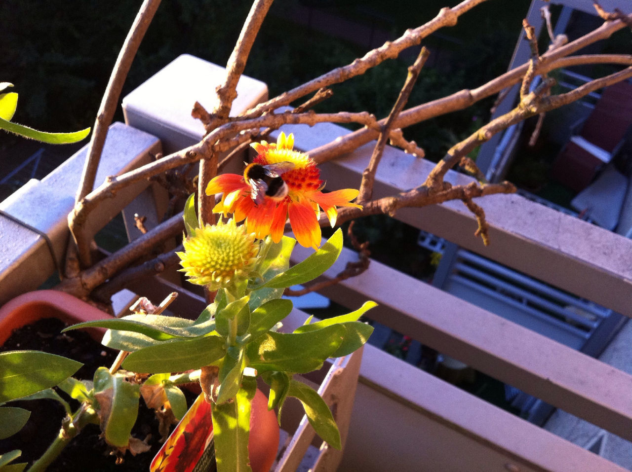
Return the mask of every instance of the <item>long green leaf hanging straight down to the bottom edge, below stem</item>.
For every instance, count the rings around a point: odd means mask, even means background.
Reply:
[[[214,404],[213,439],[217,472],[252,472],[248,460],[250,410],[255,398],[256,381],[244,379],[236,401]]]

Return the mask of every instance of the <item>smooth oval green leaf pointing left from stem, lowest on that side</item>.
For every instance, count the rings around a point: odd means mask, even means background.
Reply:
[[[200,369],[225,354],[226,346],[221,336],[174,339],[131,353],[123,361],[123,368],[133,372],[181,372]]]

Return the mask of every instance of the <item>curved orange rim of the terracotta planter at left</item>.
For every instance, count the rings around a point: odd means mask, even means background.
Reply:
[[[58,318],[66,324],[111,318],[79,298],[58,290],[36,290],[13,298],[0,308],[0,345],[4,344],[14,329],[42,318]],[[100,341],[104,329],[87,330],[92,338]]]

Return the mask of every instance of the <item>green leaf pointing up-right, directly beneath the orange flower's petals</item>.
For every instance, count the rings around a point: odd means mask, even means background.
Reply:
[[[267,281],[262,287],[286,288],[292,285],[306,283],[313,280],[329,269],[343,249],[343,232],[340,228],[332,235],[318,251],[304,261],[289,268],[284,273]]]

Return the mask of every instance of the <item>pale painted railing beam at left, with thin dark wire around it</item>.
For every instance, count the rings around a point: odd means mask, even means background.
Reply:
[[[160,152],[155,136],[114,123],[109,127],[101,156],[95,187],[109,175],[118,175],[149,162],[149,153]],[[0,202],[0,209],[46,233],[54,246],[58,261],[68,241],[67,216],[75,204],[75,192],[82,175],[87,145],[53,170],[41,181],[28,186]],[[121,211],[134,192],[147,187],[141,183],[108,199],[87,221],[87,228],[96,233]],[[27,228],[0,215],[0,304],[20,293],[34,290],[51,276],[54,264],[44,239]]]

